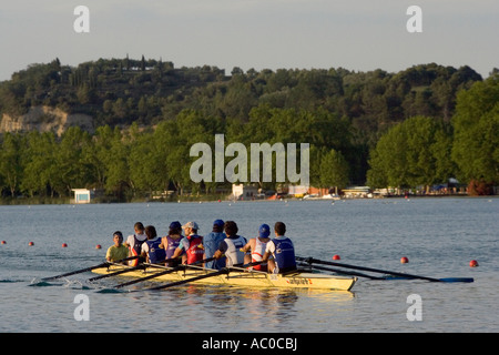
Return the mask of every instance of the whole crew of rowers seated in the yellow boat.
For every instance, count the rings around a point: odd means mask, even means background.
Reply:
[[[134,230],[135,233],[124,243],[123,234],[114,232],[114,245],[108,250],[108,261],[140,256],[147,263],[170,267],[181,263],[200,264],[212,270],[249,266],[248,270],[275,274],[296,270],[295,248],[293,242],[285,236],[286,225],[283,222],[275,223],[275,239],[271,239],[268,224],[262,224],[258,236],[249,241],[237,234],[234,221],[214,221],[213,231],[205,236],[197,234],[200,227],[196,222],[184,225],[177,221],[172,222],[169,234],[163,237],[157,236],[153,225],[144,227],[141,222],[135,223]],[[138,263],[139,260],[134,260],[131,265]]]

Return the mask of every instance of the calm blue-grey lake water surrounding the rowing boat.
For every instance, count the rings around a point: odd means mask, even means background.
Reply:
[[[215,219],[236,221],[247,239],[261,223],[284,221],[301,256],[339,254],[348,264],[475,283],[360,278],[352,292],[181,286],[98,293],[120,280],[92,284],[92,274],[83,273],[30,286],[101,263],[112,233],[129,235],[136,221],[164,234],[171,221],[193,220],[204,234]],[[498,332],[498,219],[499,199],[0,206],[7,242],[0,245],[0,333]],[[409,263],[400,264],[401,256]],[[480,266],[469,267],[470,260]],[[74,318],[79,294],[89,297],[89,321]],[[407,318],[411,294],[421,298],[421,321]]]

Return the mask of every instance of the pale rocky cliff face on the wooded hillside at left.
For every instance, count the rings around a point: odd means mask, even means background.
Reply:
[[[0,133],[4,132],[54,132],[61,135],[68,128],[78,125],[90,133],[94,132],[93,119],[88,114],[72,113],[50,106],[33,106],[21,116],[3,113],[0,121]]]

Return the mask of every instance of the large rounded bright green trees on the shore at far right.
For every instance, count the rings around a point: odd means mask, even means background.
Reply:
[[[386,132],[370,152],[368,184],[416,186],[457,178],[475,193],[499,182],[499,74],[457,95],[450,123],[410,118]]]

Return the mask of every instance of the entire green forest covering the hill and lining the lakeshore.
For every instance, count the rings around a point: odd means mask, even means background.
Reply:
[[[310,184],[401,189],[497,184],[499,71],[420,64],[397,73],[336,69],[276,71],[175,68],[160,60],[59,59],[0,82],[0,116],[32,106],[85,113],[94,129],[0,136],[3,197],[105,191],[113,201],[154,192],[214,193],[193,183],[190,148],[225,143],[310,144]],[[275,183],[261,187],[276,190]],[[473,189],[490,193],[490,189]]]

